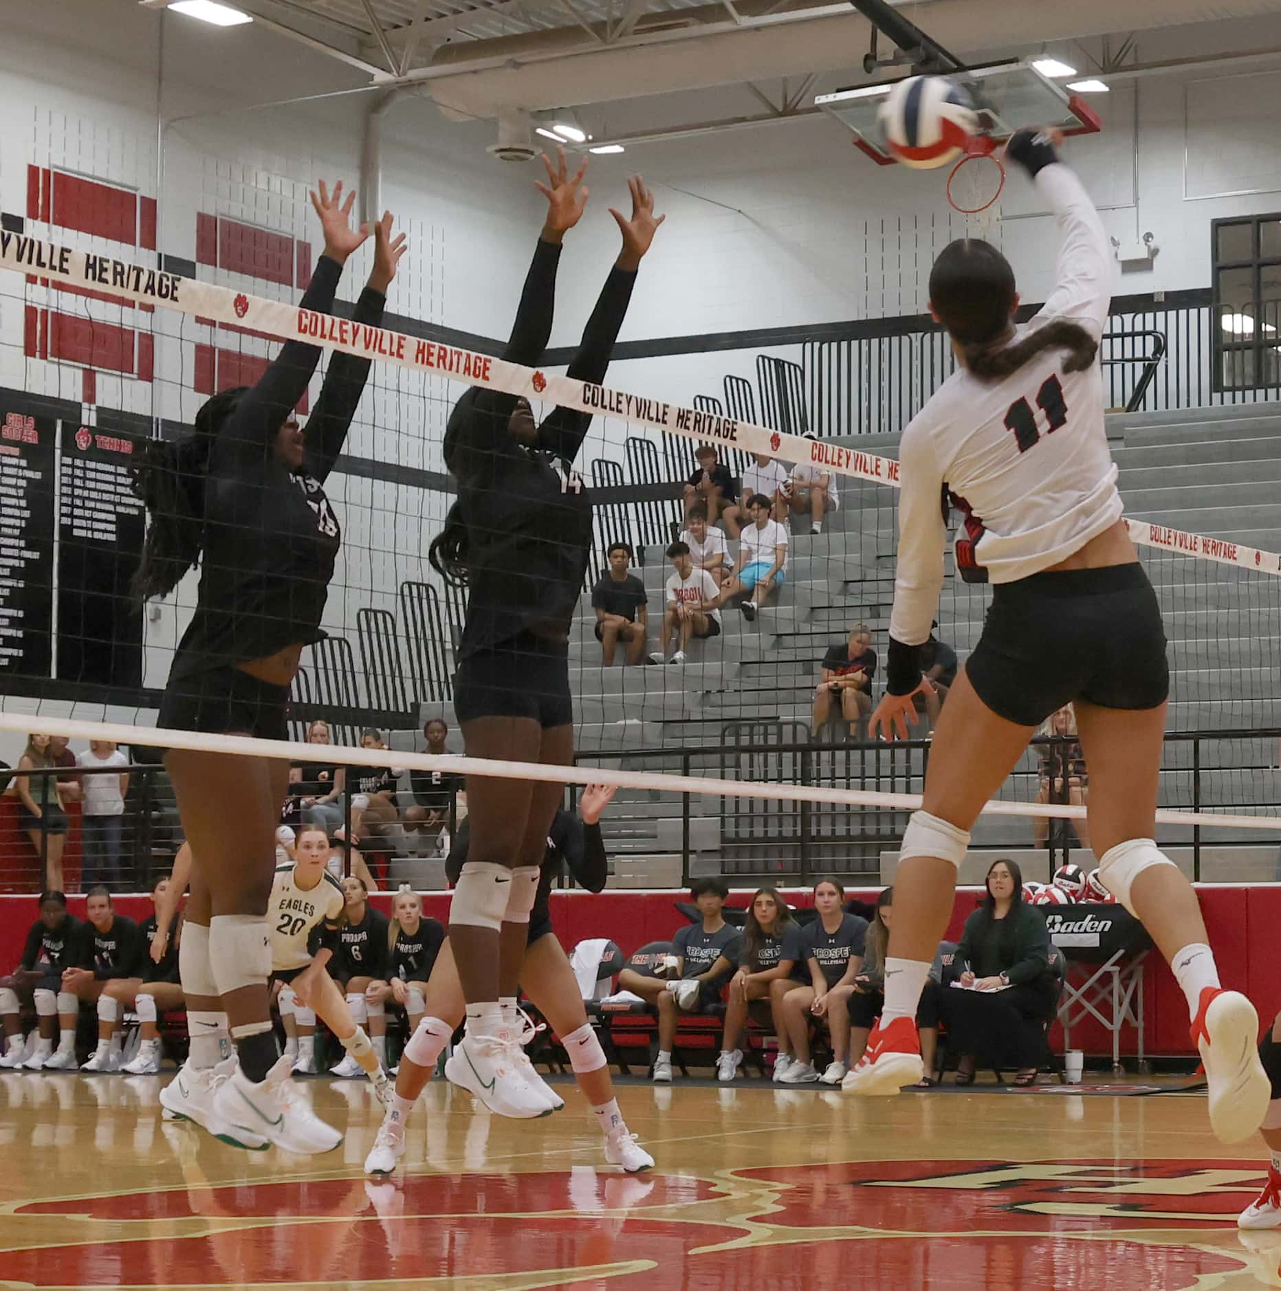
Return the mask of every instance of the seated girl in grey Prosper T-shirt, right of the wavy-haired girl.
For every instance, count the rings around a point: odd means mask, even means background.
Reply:
[[[863,967],[868,920],[846,914],[845,888],[835,879],[819,879],[814,886],[814,906],[819,918],[801,935],[810,985],[793,986],[783,997],[780,1016],[785,1032],[779,1034],[779,1056],[774,1078],[781,1084],[839,1084],[850,1070],[850,1010],[854,979]],[[810,1061],[810,1022],[828,1024],[832,1061],[820,1077]]]

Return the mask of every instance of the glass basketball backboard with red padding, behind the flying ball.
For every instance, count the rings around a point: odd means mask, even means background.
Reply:
[[[1098,114],[1080,96],[1056,85],[1030,62],[967,67],[948,72],[948,79],[968,89],[984,117],[987,133],[997,139],[1006,139],[1025,125],[1052,125],[1064,134],[1094,134],[1102,129]],[[854,132],[855,147],[878,165],[894,165],[878,112],[900,80],[907,77],[838,89],[817,96],[814,102]]]

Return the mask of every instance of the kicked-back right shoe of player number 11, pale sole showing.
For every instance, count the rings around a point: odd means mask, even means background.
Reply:
[[[1206,986],[1192,1024],[1210,1088],[1210,1128],[1220,1143],[1244,1143],[1268,1114],[1272,1084],[1259,1061],[1259,1015],[1240,991]]]

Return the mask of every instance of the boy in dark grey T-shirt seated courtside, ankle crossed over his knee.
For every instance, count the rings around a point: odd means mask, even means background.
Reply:
[[[726,977],[739,959],[739,930],[721,917],[730,888],[723,879],[695,879],[690,896],[702,915],[675,935],[677,977],[662,981],[630,968],[619,973],[619,990],[630,990],[659,1007],[659,1056],[653,1062],[655,1083],[671,1082],[671,1046],[677,1037],[677,1013],[699,1013],[721,997]]]

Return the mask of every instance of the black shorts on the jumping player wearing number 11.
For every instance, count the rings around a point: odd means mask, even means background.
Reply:
[[[1138,563],[997,584],[965,667],[979,698],[1019,726],[1073,700],[1154,709],[1170,695],[1161,609]]]

